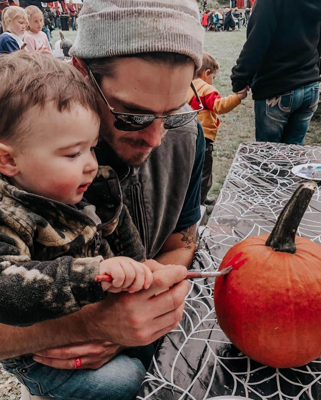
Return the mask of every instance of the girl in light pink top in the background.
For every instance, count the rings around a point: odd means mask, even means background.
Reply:
[[[27,30],[22,36],[22,41],[26,43],[29,51],[32,50],[48,50],[52,54],[47,35],[42,32],[44,27],[44,17],[40,9],[36,6],[26,7],[29,23]],[[44,52],[44,51],[42,51]]]

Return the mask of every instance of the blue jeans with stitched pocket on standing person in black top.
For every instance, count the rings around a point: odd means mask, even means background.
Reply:
[[[255,100],[257,142],[303,144],[319,103],[319,82],[280,96]]]

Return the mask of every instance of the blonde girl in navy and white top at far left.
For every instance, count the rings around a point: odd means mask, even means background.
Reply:
[[[19,35],[24,33],[27,22],[27,14],[21,7],[10,6],[2,11],[1,24],[4,32],[0,35],[0,54],[20,50],[23,42]]]

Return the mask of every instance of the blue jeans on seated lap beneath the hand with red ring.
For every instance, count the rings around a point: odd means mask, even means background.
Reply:
[[[58,370],[25,357],[2,360],[35,396],[72,400],[132,400],[146,370],[138,358],[119,354],[97,370]]]

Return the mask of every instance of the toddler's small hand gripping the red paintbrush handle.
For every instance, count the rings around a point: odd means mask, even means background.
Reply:
[[[118,293],[127,290],[129,293],[148,289],[152,284],[152,272],[145,264],[128,257],[113,257],[99,264],[99,275],[111,275],[112,282],[101,282],[102,289]]]

